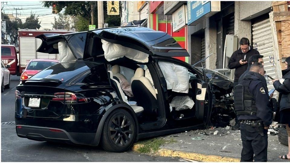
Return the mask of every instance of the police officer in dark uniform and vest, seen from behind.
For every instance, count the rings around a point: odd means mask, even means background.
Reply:
[[[243,144],[241,162],[267,161],[267,132],[272,124],[272,109],[264,74],[263,65],[253,63],[250,72],[234,90],[234,106],[241,124]]]

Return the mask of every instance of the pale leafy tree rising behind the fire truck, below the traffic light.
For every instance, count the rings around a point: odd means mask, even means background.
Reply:
[[[51,23],[54,29],[71,30],[74,28],[74,23],[72,23],[70,16],[67,16],[64,14],[58,14],[58,15],[59,15],[59,18],[56,19],[56,17],[54,17],[54,23]]]

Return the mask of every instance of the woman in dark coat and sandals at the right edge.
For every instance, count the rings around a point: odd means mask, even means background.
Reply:
[[[285,70],[282,70],[284,82],[281,79],[280,81],[272,80],[272,82],[276,91],[279,92],[279,113],[277,111],[274,121],[285,124],[288,133],[288,153],[279,158],[290,160],[290,57],[287,57],[285,61]]]

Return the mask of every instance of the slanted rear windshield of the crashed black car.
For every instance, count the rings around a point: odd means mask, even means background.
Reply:
[[[62,62],[37,73],[30,79],[45,78],[46,80],[57,79],[60,81],[66,81],[97,65],[98,63],[82,61]]]

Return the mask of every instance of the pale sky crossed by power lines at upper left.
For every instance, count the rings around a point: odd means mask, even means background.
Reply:
[[[3,2],[4,4],[2,4]],[[14,17],[16,17],[17,8],[17,17],[20,18],[23,23],[25,22],[26,18],[30,16],[31,12],[35,13],[35,16],[38,15],[38,20],[41,21],[40,30],[43,30],[44,28],[52,29],[51,23],[54,23],[54,17],[58,18],[57,14],[52,14],[52,8],[43,7],[41,1],[1,0],[1,8],[2,7],[6,14],[13,14]]]

